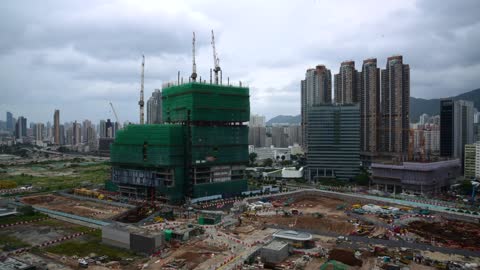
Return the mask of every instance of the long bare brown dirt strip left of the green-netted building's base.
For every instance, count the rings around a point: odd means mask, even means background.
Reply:
[[[24,197],[22,202],[45,207],[51,210],[95,219],[109,219],[128,210],[123,207],[90,201],[81,201],[50,194]]]

